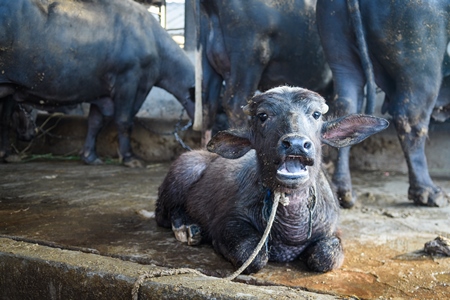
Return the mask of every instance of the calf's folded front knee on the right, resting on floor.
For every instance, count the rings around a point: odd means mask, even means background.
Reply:
[[[303,257],[311,271],[325,273],[342,266],[344,249],[341,240],[333,236],[309,246]]]

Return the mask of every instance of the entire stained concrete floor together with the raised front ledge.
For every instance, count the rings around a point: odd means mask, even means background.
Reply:
[[[148,299],[450,298],[450,258],[423,251],[450,237],[450,207],[412,205],[404,174],[353,173],[359,202],[341,213],[341,269],[269,263],[230,283],[173,270],[223,277],[233,268],[210,245],[177,242],[147,214],[168,166],[0,164],[0,298],[128,299],[142,274],[158,277],[139,290]],[[434,179],[450,192],[450,174]]]

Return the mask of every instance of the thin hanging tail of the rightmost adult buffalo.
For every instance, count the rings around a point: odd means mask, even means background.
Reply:
[[[374,79],[373,65],[370,61],[367,42],[364,36],[364,28],[361,19],[361,10],[358,0],[347,0],[347,9],[353,24],[353,30],[356,36],[356,45],[359,49],[361,65],[366,76],[367,84],[367,103],[365,113],[372,115],[375,110],[376,85]]]

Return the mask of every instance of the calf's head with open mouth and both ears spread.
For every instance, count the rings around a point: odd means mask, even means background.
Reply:
[[[244,107],[247,128],[219,132],[208,150],[239,158],[255,149],[261,179],[273,190],[297,189],[320,171],[321,143],[350,146],[386,128],[382,118],[349,115],[324,121],[328,111],[317,93],[298,87],[277,87],[255,95]]]

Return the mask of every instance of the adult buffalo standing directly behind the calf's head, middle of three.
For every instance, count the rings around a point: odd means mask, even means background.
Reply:
[[[231,127],[246,124],[241,106],[256,90],[288,84],[324,95],[331,87],[315,20],[315,0],[200,1],[203,128],[219,106]]]

